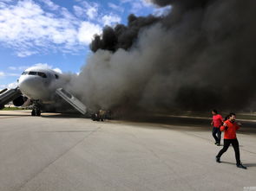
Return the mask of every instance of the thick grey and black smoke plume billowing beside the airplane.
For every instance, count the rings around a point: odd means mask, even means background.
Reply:
[[[254,0],[151,0],[162,17],[105,27],[71,89],[91,108],[241,110],[255,99]]]

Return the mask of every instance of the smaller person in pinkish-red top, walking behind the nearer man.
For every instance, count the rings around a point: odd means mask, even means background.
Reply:
[[[215,144],[217,144],[217,146],[220,146],[220,139],[221,139],[220,126],[223,124],[223,118],[220,114],[218,114],[217,110],[213,110],[212,114],[213,114],[213,121],[211,124],[213,125],[213,131],[212,131],[213,138],[215,139]]]

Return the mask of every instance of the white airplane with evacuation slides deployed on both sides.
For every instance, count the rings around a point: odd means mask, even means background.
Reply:
[[[71,108],[87,113],[87,107],[63,87],[67,75],[43,67],[26,69],[14,89],[0,91],[0,109],[13,102],[15,106],[32,105],[31,116],[41,116],[41,111],[70,111]]]

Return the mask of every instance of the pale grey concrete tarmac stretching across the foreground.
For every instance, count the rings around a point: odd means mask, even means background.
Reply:
[[[238,116],[239,117],[239,116]],[[208,118],[136,122],[0,111],[0,190],[256,190],[256,123],[215,162]]]

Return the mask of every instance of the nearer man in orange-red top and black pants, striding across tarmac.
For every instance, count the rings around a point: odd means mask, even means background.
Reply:
[[[220,127],[220,131],[224,132],[224,146],[223,149],[220,150],[218,155],[216,156],[216,162],[220,162],[220,157],[223,153],[226,152],[229,145],[232,144],[233,150],[235,153],[236,159],[236,166],[241,169],[247,169],[242,163],[240,162],[240,144],[236,138],[236,131],[240,129],[241,124],[235,121],[235,114],[230,113],[228,119],[224,122],[224,124]]]

